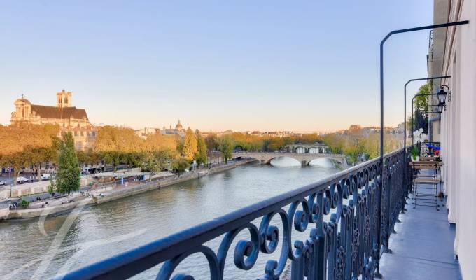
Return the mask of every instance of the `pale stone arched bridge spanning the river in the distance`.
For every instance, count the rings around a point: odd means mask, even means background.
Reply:
[[[293,152],[246,152],[246,153],[233,153],[232,158],[255,158],[259,160],[263,165],[268,164],[274,158],[293,158],[301,162],[302,166],[309,165],[309,162],[316,160],[317,158],[328,158],[335,160],[339,165],[346,166],[347,161],[345,155],[338,155],[332,153],[293,153]]]

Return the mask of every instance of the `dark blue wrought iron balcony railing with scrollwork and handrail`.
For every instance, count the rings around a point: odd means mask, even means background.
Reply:
[[[267,260],[265,271],[256,276],[279,279],[290,262],[292,279],[373,279],[393,225],[405,210],[411,182],[408,154],[403,149],[388,153],[383,169],[379,158],[364,162],[61,278],[127,279],[161,264],[157,279],[193,279],[193,271],[174,269],[201,253],[211,279],[223,279],[228,276],[225,262],[248,270],[281,245],[279,256]],[[273,217],[281,220],[280,228]],[[256,219],[259,225],[253,223]],[[249,237],[237,237],[242,231]],[[293,242],[293,232],[309,235]],[[205,244],[214,239],[220,242],[216,251]],[[235,248],[230,248],[232,242]],[[227,260],[230,249],[233,260]]]

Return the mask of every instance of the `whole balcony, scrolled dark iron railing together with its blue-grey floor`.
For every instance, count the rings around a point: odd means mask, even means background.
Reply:
[[[235,273],[258,258],[267,262],[255,279],[461,278],[444,207],[406,204],[409,161],[403,149],[394,151],[383,168],[379,158],[364,162],[62,279],[127,279],[152,267],[157,279],[193,279],[198,268],[210,279],[242,279],[249,276]],[[175,271],[197,254],[206,257],[203,267]]]

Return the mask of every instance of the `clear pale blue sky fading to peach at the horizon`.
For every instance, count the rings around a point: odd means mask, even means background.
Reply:
[[[55,106],[65,89],[95,125],[377,126],[381,39],[431,24],[431,0],[1,1],[0,123],[22,94]],[[427,53],[428,31],[387,41],[385,125]]]

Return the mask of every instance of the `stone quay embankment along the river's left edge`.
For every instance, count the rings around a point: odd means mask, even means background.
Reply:
[[[169,176],[165,179],[158,179],[153,181],[146,181],[144,183],[138,183],[137,185],[116,185],[116,186],[104,186],[98,190],[91,190],[82,194],[74,194],[69,197],[64,197],[61,200],[45,200],[43,202],[34,202],[27,209],[0,209],[0,221],[8,219],[22,219],[22,218],[38,218],[39,216],[48,214],[62,214],[64,212],[71,211],[78,207],[78,205],[84,204],[102,204],[119,200],[124,197],[137,195],[139,193],[145,193],[150,190],[156,190],[158,188],[165,188],[172,186],[176,183],[183,183],[193,179],[199,179],[203,176],[210,174],[216,174],[218,172],[224,172],[226,170],[235,168],[240,165],[246,165],[249,162],[253,162],[253,159],[239,160],[232,162],[228,165],[220,165],[211,167],[209,169],[200,169],[195,172],[188,172],[182,175]],[[48,202],[46,204],[45,202]]]

